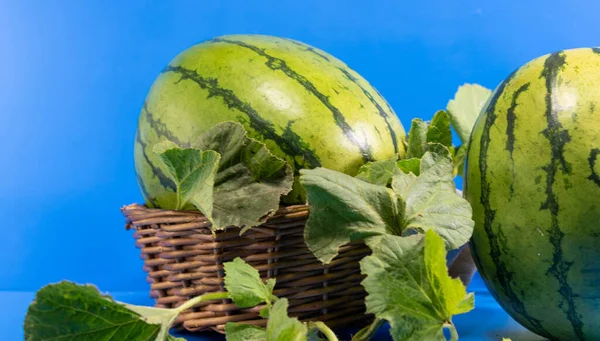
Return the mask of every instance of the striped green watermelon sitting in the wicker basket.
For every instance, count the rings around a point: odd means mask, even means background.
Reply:
[[[135,167],[148,205],[175,202],[152,146],[164,139],[185,146],[224,121],[243,124],[296,170],[353,175],[367,161],[404,155],[405,130],[392,108],[340,60],[294,40],[221,36],[176,56],[146,97]]]

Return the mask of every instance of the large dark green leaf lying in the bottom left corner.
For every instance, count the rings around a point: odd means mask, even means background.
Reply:
[[[177,313],[127,306],[91,285],[64,281],[37,292],[25,316],[25,340],[178,340],[168,335]]]

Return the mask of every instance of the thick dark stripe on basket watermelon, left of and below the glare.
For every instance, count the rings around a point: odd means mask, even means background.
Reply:
[[[189,70],[181,66],[169,65],[163,71],[163,73],[165,72],[177,73],[181,77],[178,82],[183,80],[193,81],[201,89],[208,91],[208,98],[219,97],[229,109],[237,109],[246,114],[252,129],[261,134],[265,139],[274,141],[285,154],[293,158],[296,170],[321,166],[321,161],[314,150],[306,142],[302,141],[302,138],[298,134],[291,130],[290,124],[293,122],[288,124],[284,135],[280,136],[276,133],[273,123],[262,118],[249,103],[239,99],[232,90],[220,87],[217,79],[202,77],[195,70]]]

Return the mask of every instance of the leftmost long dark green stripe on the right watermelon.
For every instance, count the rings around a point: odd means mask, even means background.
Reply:
[[[485,122],[484,128],[481,133],[480,139],[480,153],[479,153],[479,172],[481,174],[481,198],[480,203],[483,206],[483,229],[487,235],[487,240],[490,243],[490,257],[496,266],[496,278],[500,286],[502,287],[503,294],[508,297],[508,301],[498,300],[498,302],[505,302],[509,304],[512,310],[526,319],[535,332],[541,335],[549,335],[548,332],[542,326],[542,321],[529,315],[525,305],[520,297],[517,296],[516,292],[512,288],[512,281],[514,273],[508,270],[508,267],[502,261],[502,253],[505,252],[506,238],[503,236],[502,226],[498,226],[498,233],[494,231],[493,223],[496,217],[496,210],[492,209],[491,205],[491,185],[488,180],[487,172],[487,156],[490,147],[490,131],[498,117],[496,113],[496,104],[504,93],[506,85],[512,80],[518,70],[515,70],[507,79],[505,79],[498,87],[490,103],[485,111]],[[470,149],[469,144],[469,149]],[[467,151],[467,154],[469,151]],[[479,262],[479,260],[478,260]],[[481,267],[480,267],[481,268]]]

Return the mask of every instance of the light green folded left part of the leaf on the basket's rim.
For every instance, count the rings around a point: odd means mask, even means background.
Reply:
[[[213,150],[179,148],[171,141],[160,142],[153,150],[159,154],[177,185],[177,206],[174,209],[183,209],[193,202],[212,219],[212,191],[221,156]]]

